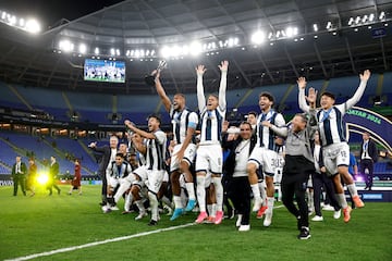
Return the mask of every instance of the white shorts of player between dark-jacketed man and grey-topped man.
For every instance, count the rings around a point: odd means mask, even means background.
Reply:
[[[275,169],[280,166],[282,158],[277,151],[264,147],[255,147],[250,153],[248,163],[255,163],[256,169],[262,165],[262,173],[273,177]]]

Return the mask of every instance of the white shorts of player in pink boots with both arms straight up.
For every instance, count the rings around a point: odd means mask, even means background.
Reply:
[[[196,173],[208,172],[222,174],[222,147],[220,145],[201,145],[196,154]]]

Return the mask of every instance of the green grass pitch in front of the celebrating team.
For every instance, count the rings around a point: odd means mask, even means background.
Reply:
[[[148,217],[134,221],[135,213],[103,214],[99,186],[84,186],[83,196],[69,196],[70,187],[61,188],[60,196],[38,189],[35,197],[13,197],[12,187],[0,187],[0,260],[189,224],[197,215],[171,222],[162,214],[158,226],[150,227]],[[324,211],[323,222],[310,223],[308,240],[296,238],[295,219],[283,207],[274,210],[270,227],[253,214],[246,233],[236,231],[235,220],[224,220],[220,225],[142,234],[33,260],[392,260],[392,204],[365,203],[353,210],[347,224]]]

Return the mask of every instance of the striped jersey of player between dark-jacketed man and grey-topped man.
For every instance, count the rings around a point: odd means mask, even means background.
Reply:
[[[270,110],[267,113],[261,113],[257,117],[257,128],[256,128],[256,137],[257,137],[257,147],[265,147],[269,150],[278,151],[279,147],[274,142],[277,134],[270,129],[269,127],[262,126],[261,122],[267,121],[277,127],[285,127],[285,121],[281,113],[275,112],[274,110]]]

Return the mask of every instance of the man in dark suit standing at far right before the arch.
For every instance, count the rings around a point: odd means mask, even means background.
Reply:
[[[360,145],[360,173],[365,174],[365,170],[368,171],[368,174],[365,176],[365,190],[371,190],[372,179],[373,179],[373,166],[378,160],[378,152],[376,142],[370,139],[370,134],[368,132],[363,133],[363,142]]]

